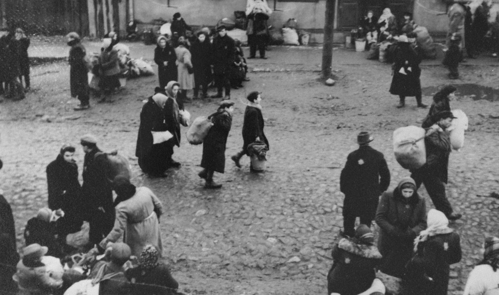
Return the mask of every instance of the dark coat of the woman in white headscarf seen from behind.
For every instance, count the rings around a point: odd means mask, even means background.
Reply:
[[[407,264],[404,295],[447,295],[449,266],[460,261],[461,245],[457,233],[429,237],[418,245],[416,255]]]

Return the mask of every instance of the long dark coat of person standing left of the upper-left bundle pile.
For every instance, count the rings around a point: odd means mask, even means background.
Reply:
[[[70,42],[70,44],[72,44],[69,50],[71,97],[84,96],[89,90],[85,47],[80,42]]]

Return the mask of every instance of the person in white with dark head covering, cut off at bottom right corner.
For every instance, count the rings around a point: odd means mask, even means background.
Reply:
[[[463,295],[496,295],[499,286],[499,239],[487,237],[484,259],[471,271]]]

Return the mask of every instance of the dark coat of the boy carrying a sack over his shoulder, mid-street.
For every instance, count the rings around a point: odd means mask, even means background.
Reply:
[[[201,167],[224,173],[225,149],[231,131],[232,116],[224,110],[219,110],[208,118],[212,120],[213,126],[203,141]]]

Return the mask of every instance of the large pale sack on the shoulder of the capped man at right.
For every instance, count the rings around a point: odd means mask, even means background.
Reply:
[[[393,132],[395,159],[405,169],[418,169],[426,163],[425,130],[417,126],[401,127]]]

